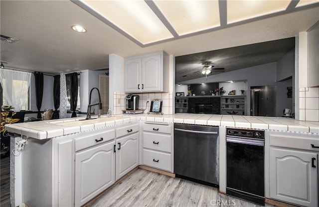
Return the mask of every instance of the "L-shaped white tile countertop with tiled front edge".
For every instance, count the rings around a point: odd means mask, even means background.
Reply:
[[[92,118],[95,118],[92,116]],[[56,119],[38,122],[6,124],[7,131],[35,139],[48,139],[67,134],[111,127],[138,120],[152,122],[173,122],[211,126],[270,129],[319,134],[319,122],[298,121],[286,117],[256,117],[209,114],[120,114],[113,117],[103,116],[100,119],[83,120],[84,117]]]

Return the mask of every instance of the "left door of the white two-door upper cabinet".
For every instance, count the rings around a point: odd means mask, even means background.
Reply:
[[[140,92],[141,85],[141,58],[125,59],[124,69],[125,92]]]

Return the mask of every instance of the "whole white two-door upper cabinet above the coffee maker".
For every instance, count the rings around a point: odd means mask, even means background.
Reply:
[[[125,92],[167,92],[169,56],[164,51],[125,58]]]

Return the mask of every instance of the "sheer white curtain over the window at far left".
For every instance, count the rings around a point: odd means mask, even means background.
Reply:
[[[28,90],[31,79],[30,72],[0,68],[0,82],[8,105],[14,111],[20,111],[25,101],[28,101]]]

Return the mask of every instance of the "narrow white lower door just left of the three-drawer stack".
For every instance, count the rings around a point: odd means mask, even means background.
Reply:
[[[140,133],[136,133],[116,140],[116,180],[138,166],[139,136]]]

